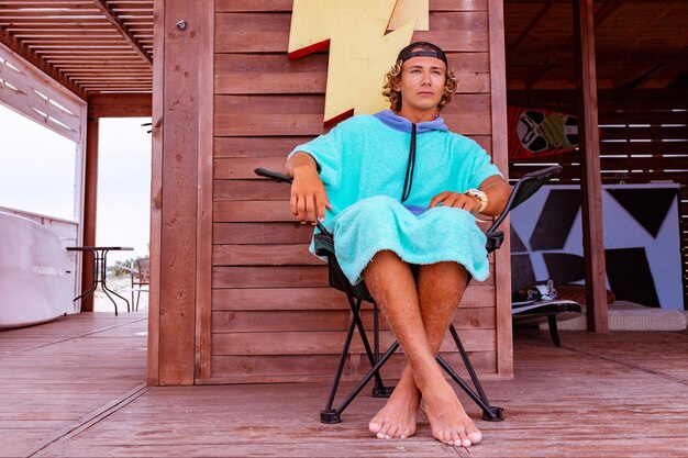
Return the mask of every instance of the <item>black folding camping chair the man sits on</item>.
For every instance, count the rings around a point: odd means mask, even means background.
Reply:
[[[270,170],[265,170],[262,168],[257,168],[254,170],[257,175],[262,177],[269,178],[274,181],[278,182],[291,182],[291,178],[276,174]],[[512,188],[511,194],[509,196],[509,200],[507,201],[507,205],[502,214],[500,214],[497,220],[492,223],[489,230],[486,233],[487,236],[487,252],[488,254],[498,249],[504,238],[504,234],[502,231],[497,231],[497,227],[504,221],[507,214],[517,208],[519,204],[524,202],[528,198],[535,193],[545,182],[555,178],[562,171],[561,166],[552,166],[539,171],[530,172],[524,175]],[[393,355],[393,353],[399,348],[399,342],[396,340],[387,351],[380,356],[379,350],[379,312],[375,300],[368,292],[365,283],[362,281],[357,284],[352,284],[340,268],[340,265],[336,260],[336,256],[334,253],[334,238],[332,234],[320,223],[317,223],[319,234],[314,235],[314,246],[315,252],[319,256],[323,256],[328,258],[328,266],[330,272],[330,286],[343,291],[346,293],[348,299],[348,303],[352,310],[352,321],[349,323],[348,333],[346,334],[346,339],[344,340],[344,348],[342,350],[342,356],[340,358],[340,364],[336,370],[336,375],[334,377],[334,381],[332,382],[332,389],[330,391],[330,396],[328,398],[328,402],[325,404],[325,409],[320,412],[320,421],[321,423],[340,423],[342,421],[341,415],[342,412],[348,406],[348,404],[358,395],[360,390],[370,381],[371,378],[375,378],[375,384],[373,387],[373,396],[375,398],[388,398],[393,390],[393,387],[386,387],[382,382],[382,378],[380,377],[380,369],[387,362],[387,360]],[[470,281],[470,277],[468,278]],[[366,329],[363,325],[363,321],[360,319],[360,304],[363,301],[369,302],[373,304],[373,338],[374,344],[370,347],[370,342],[368,340]],[[333,409],[334,399],[336,396],[336,392],[340,386],[340,379],[342,378],[342,373],[344,371],[344,366],[346,362],[346,357],[348,355],[348,349],[352,343],[352,338],[354,336],[354,331],[358,329],[360,335],[360,339],[363,340],[363,346],[366,350],[366,355],[368,357],[368,361],[370,362],[370,370],[363,377],[363,379],[356,384],[356,387],[351,391],[351,393],[340,403],[336,409]],[[466,370],[470,376],[475,390],[471,389],[464,379],[462,379],[452,367],[442,358],[442,356],[437,355],[436,359],[440,366],[447,372],[447,375],[473,399],[473,401],[478,404],[478,406],[482,410],[482,420],[499,422],[503,420],[503,409],[490,405],[482,387],[480,386],[480,381],[476,375],[470,360],[468,359],[468,355],[462,344],[460,338],[458,337],[458,333],[454,327],[454,324],[450,324],[450,333],[454,338],[454,343],[456,344],[456,348],[458,349],[462,360],[466,366]]]

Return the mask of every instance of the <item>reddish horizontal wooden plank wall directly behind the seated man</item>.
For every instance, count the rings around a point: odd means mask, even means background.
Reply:
[[[211,376],[198,383],[329,381],[348,325],[344,294],[308,252],[312,227],[289,212],[288,187],[253,174],[281,171],[296,145],[324,132],[328,54],[289,62],[291,3],[215,0]],[[444,118],[490,150],[488,0],[430,5],[431,31],[413,38],[444,47],[460,80]],[[455,321],[477,369],[492,376],[495,303],[492,279],[474,284]],[[382,345],[391,338],[384,332]],[[458,360],[448,340],[443,350]],[[366,371],[362,351],[355,337],[346,378]]]

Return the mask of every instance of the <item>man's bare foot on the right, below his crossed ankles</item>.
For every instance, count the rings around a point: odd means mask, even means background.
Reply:
[[[424,411],[435,439],[456,447],[470,447],[480,442],[482,434],[444,379],[424,392],[428,393],[423,396]]]

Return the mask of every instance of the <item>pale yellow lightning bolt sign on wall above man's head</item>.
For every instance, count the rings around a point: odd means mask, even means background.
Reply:
[[[330,47],[325,125],[354,112],[375,113],[389,108],[381,94],[384,76],[395,64],[399,49],[411,43],[417,22],[419,29],[428,29],[426,0],[399,0],[399,3],[397,0],[293,1],[289,58]],[[390,24],[395,27],[403,20],[409,22],[385,35]]]

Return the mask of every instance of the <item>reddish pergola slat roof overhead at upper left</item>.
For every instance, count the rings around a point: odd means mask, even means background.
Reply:
[[[0,0],[0,42],[80,98],[153,91],[153,0]]]

